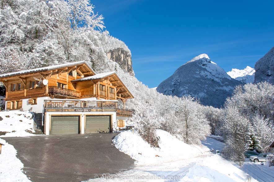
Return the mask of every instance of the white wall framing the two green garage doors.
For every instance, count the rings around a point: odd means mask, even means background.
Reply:
[[[112,128],[113,128],[113,132],[117,131],[117,121],[116,121],[116,112],[46,112],[46,121],[45,121],[45,131],[44,133],[46,135],[50,134],[50,115],[54,114],[54,115],[64,115],[64,116],[68,116],[70,114],[79,114],[81,115],[81,134],[84,134],[85,132],[85,115],[112,115]]]

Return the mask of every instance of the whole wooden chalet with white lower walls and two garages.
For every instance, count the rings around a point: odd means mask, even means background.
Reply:
[[[125,103],[134,97],[118,75],[96,74],[85,61],[1,74],[0,81],[6,109],[35,112],[45,134],[112,132],[132,116]]]

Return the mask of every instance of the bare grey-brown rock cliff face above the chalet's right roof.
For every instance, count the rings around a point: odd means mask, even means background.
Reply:
[[[130,53],[122,48],[116,48],[110,50],[107,53],[107,57],[108,59],[117,62],[123,70],[129,72],[131,75],[134,75]]]

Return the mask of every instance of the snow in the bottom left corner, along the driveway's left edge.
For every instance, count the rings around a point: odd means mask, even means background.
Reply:
[[[0,181],[30,182],[27,176],[21,171],[24,164],[16,158],[17,151],[15,148],[1,138],[0,143],[4,144],[2,146],[2,153],[0,154]]]

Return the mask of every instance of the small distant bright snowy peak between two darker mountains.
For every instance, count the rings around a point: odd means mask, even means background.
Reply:
[[[242,83],[253,83],[254,82],[254,75],[255,69],[251,68],[250,66],[246,66],[243,70],[238,70],[233,68],[231,71],[228,71],[227,74],[236,80],[241,81]]]

